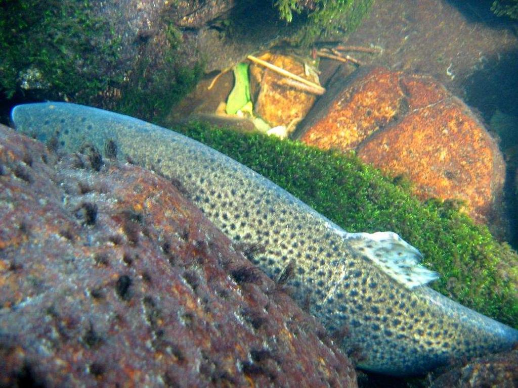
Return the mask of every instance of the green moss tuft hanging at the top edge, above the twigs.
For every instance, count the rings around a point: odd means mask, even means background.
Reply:
[[[278,0],[281,19],[291,22],[293,12],[303,13],[305,21],[293,40],[308,46],[315,40],[336,38],[353,31],[370,9],[373,0],[315,0],[314,10],[302,12],[302,2],[298,0]]]

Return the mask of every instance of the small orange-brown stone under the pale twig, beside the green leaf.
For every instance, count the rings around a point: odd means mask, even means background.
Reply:
[[[314,72],[306,75],[304,64],[293,56],[265,53],[259,58],[320,84],[318,75]],[[250,80],[255,113],[271,127],[287,127],[288,133],[306,116],[316,99],[314,94],[291,86],[289,79],[261,65],[250,66]]]

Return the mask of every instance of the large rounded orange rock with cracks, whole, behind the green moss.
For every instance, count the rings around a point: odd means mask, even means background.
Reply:
[[[363,69],[315,108],[304,142],[355,149],[386,173],[409,177],[422,199],[460,199],[476,221],[501,223],[505,165],[498,146],[433,79]]]

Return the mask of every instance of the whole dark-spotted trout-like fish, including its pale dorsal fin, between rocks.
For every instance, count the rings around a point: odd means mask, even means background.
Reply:
[[[236,242],[264,249],[255,263],[288,282],[331,332],[347,332],[344,350],[358,366],[392,375],[420,374],[452,357],[510,348],[518,331],[424,286],[435,274],[418,250],[391,232],[348,233],[235,160],[173,131],[132,117],[67,103],[16,107],[15,127],[67,152],[85,143],[175,178],[207,217]],[[308,304],[309,302],[309,304]],[[346,330],[344,330],[346,329]]]

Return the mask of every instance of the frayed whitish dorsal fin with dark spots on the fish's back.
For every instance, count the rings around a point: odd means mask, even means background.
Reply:
[[[421,252],[394,232],[348,233],[348,243],[407,288],[423,286],[439,274],[420,264]]]

